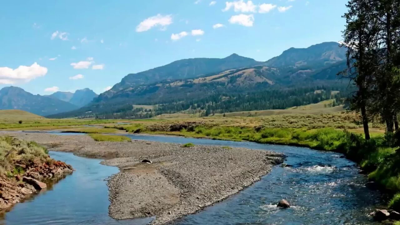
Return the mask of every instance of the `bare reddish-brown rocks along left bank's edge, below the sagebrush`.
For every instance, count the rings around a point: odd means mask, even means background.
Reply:
[[[46,189],[47,185],[42,181],[58,179],[73,171],[70,165],[61,161],[18,166],[26,171],[23,175],[0,177],[0,211],[8,211],[33,193]]]

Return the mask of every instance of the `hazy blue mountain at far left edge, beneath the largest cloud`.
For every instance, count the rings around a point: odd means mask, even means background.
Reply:
[[[10,86],[0,90],[0,109],[19,109],[46,116],[76,109],[71,103],[47,96],[34,95]]]

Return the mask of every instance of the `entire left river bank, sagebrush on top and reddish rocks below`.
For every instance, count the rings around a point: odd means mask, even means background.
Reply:
[[[16,203],[36,191],[46,189],[43,182],[59,179],[73,169],[61,161],[55,161],[44,149],[33,142],[10,137],[0,137],[0,211],[7,211]]]

